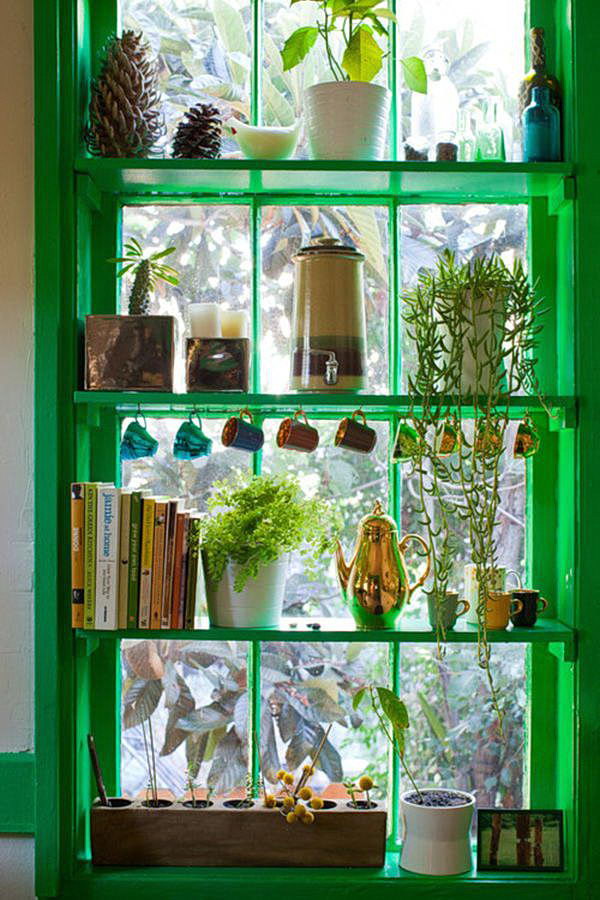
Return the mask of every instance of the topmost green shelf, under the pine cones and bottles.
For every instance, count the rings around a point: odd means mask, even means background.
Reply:
[[[397,197],[407,202],[519,201],[549,197],[560,205],[573,196],[570,163],[452,163],[260,159],[80,158],[78,175],[98,191],[138,197],[205,195],[237,197],[310,195]],[[314,202],[314,199],[313,201]]]

